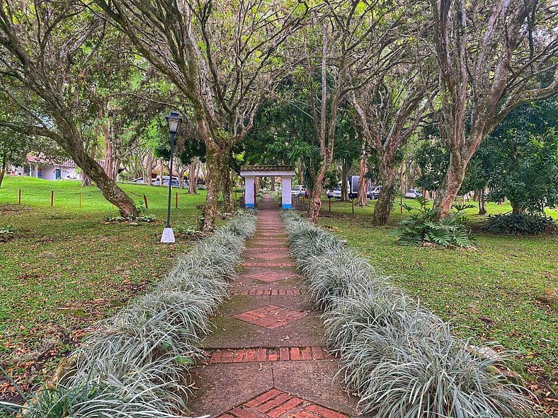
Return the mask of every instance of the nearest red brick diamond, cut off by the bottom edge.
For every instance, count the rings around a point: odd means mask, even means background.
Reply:
[[[271,389],[217,418],[348,418],[278,389]]]

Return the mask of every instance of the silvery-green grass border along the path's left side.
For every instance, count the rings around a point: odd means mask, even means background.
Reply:
[[[256,230],[243,214],[180,257],[154,291],[98,326],[25,405],[28,417],[178,417],[188,412],[190,367],[203,357],[210,316]]]

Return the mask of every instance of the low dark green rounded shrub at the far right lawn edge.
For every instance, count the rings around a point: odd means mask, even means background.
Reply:
[[[482,229],[491,233],[508,235],[532,235],[556,230],[551,216],[543,214],[496,214],[490,215]]]

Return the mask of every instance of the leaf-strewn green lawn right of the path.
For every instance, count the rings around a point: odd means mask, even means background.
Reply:
[[[416,202],[406,200],[416,205]],[[489,212],[509,207],[489,204]],[[324,202],[319,223],[368,257],[372,265],[410,295],[420,298],[455,333],[474,342],[496,341],[513,350],[511,366],[548,403],[557,406],[557,310],[536,296],[558,287],[558,236],[495,236],[477,231],[478,250],[415,248],[397,245],[390,236],[402,218],[399,204],[385,227],[370,223],[373,206]],[[471,212],[476,213],[476,209]],[[557,211],[549,211],[558,218]],[[485,216],[472,215],[476,228]]]

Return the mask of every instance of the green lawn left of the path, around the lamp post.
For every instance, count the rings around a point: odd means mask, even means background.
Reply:
[[[135,202],[147,196],[145,213],[154,214],[156,223],[105,223],[106,214],[118,211],[96,187],[79,182],[7,178],[0,188],[0,228],[15,230],[13,239],[0,242],[0,366],[24,390],[47,376],[89,325],[147,290],[194,243],[178,236],[176,245],[159,244],[168,189],[123,189]],[[172,225],[196,225],[205,192],[176,191]],[[3,388],[9,388],[6,379],[0,393]]]

